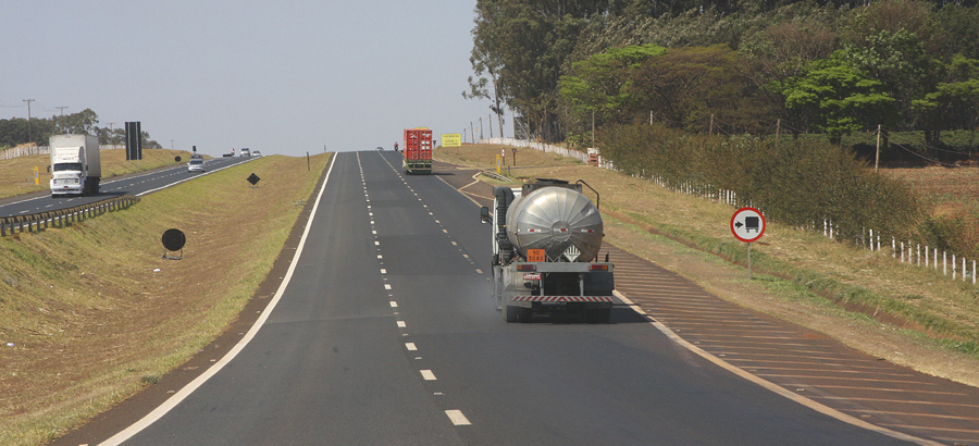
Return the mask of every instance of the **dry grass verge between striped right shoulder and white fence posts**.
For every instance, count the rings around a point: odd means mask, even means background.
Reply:
[[[485,166],[493,165],[498,152],[499,146],[439,147],[435,156],[448,162]],[[533,154],[525,158],[535,159]],[[821,330],[894,362],[979,385],[975,354],[956,351],[962,343],[979,342],[979,287],[953,282],[941,272],[902,264],[890,255],[831,241],[821,232],[797,231],[778,223],[769,223],[761,243],[752,249],[754,269],[768,275],[748,282],[744,269],[730,262],[741,261],[745,251],[744,244],[730,233],[734,211],[730,206],[676,194],[577,161],[512,173],[520,179],[584,179],[602,194],[609,241],[685,275],[722,298]],[[833,306],[833,301],[841,306]],[[827,305],[832,310],[825,308]],[[859,312],[842,311],[844,305],[850,310],[878,313],[877,319],[888,324]],[[889,311],[891,317],[887,318]],[[897,336],[899,331],[903,335]],[[881,333],[897,337],[884,340],[877,336]],[[902,347],[893,347],[899,340]]]

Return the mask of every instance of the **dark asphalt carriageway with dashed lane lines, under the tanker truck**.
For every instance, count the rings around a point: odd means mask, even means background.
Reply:
[[[507,324],[476,205],[404,175],[399,154],[338,153],[261,325],[103,444],[907,444],[718,368],[625,306],[610,324]]]

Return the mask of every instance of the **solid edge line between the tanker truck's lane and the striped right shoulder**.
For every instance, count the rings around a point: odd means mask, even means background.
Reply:
[[[840,420],[840,421],[842,421],[842,422],[844,422],[844,423],[853,424],[853,425],[855,425],[855,426],[857,426],[857,428],[863,428],[863,429],[866,429],[866,430],[868,430],[868,431],[872,431],[872,432],[877,432],[877,433],[879,433],[879,434],[883,434],[883,435],[890,436],[890,437],[892,437],[892,438],[897,438],[897,439],[902,439],[902,441],[905,441],[905,442],[916,443],[916,444],[919,444],[919,445],[922,445],[922,446],[942,446],[941,443],[932,442],[932,441],[930,441],[930,439],[925,439],[925,438],[918,438],[918,437],[916,437],[916,436],[912,436],[912,435],[908,435],[908,434],[905,434],[905,433],[902,433],[902,432],[897,432],[897,431],[891,431],[890,429],[881,428],[881,426],[879,426],[879,425],[868,423],[868,422],[866,422],[866,421],[864,421],[864,420],[860,420],[860,419],[858,419],[858,418],[851,417],[851,416],[848,416],[848,414],[846,414],[846,413],[843,413],[843,412],[841,412],[841,411],[839,411],[839,410],[837,410],[837,409],[833,409],[833,408],[831,408],[831,407],[825,406],[825,405],[822,405],[822,404],[820,404],[820,402],[814,401],[814,400],[811,400],[811,399],[809,399],[809,398],[806,398],[806,397],[804,397],[804,396],[800,396],[798,394],[795,394],[795,393],[793,393],[793,392],[791,392],[791,391],[789,391],[789,389],[786,389],[786,388],[784,388],[784,387],[782,387],[782,386],[780,386],[780,385],[777,385],[777,384],[774,384],[774,383],[772,383],[772,382],[770,382],[770,381],[766,381],[766,380],[764,380],[764,379],[761,379],[761,377],[758,377],[758,376],[756,376],[756,375],[754,375],[754,374],[752,374],[752,373],[749,373],[749,372],[747,372],[747,371],[745,371],[745,370],[742,370],[741,368],[739,368],[739,367],[736,367],[736,366],[732,366],[732,364],[729,363],[728,361],[724,361],[723,359],[720,359],[720,358],[718,358],[718,357],[716,357],[716,356],[714,356],[714,355],[710,355],[709,352],[703,350],[701,347],[697,347],[697,346],[691,344],[690,342],[687,342],[686,339],[680,337],[679,335],[677,335],[676,333],[673,333],[673,331],[670,330],[668,326],[666,326],[666,325],[664,325],[661,322],[659,322],[659,321],[653,319],[653,317],[650,317],[648,313],[646,313],[642,308],[640,308],[637,305],[635,305],[632,300],[629,300],[628,297],[625,297],[624,295],[622,295],[621,293],[619,293],[618,289],[612,290],[612,294],[614,294],[616,297],[618,297],[619,299],[621,299],[622,302],[624,302],[625,305],[628,305],[633,311],[635,311],[635,312],[637,312],[637,313],[640,313],[640,314],[645,315],[646,318],[648,318],[648,319],[649,319],[649,323],[653,324],[653,326],[655,326],[657,330],[659,330],[660,332],[662,332],[662,334],[665,334],[666,337],[669,338],[670,340],[672,340],[672,342],[677,343],[678,345],[680,345],[681,347],[686,348],[687,350],[690,350],[690,351],[696,354],[696,355],[699,356],[701,358],[704,358],[704,359],[706,359],[706,360],[708,360],[708,361],[715,363],[716,366],[720,367],[721,369],[724,369],[724,370],[727,370],[727,371],[729,371],[729,372],[731,372],[731,373],[734,373],[735,375],[741,376],[741,377],[743,377],[743,379],[745,379],[745,380],[747,380],[747,381],[749,381],[749,382],[752,382],[752,383],[755,383],[755,384],[757,384],[757,385],[759,385],[759,386],[761,386],[761,387],[764,387],[764,388],[766,388],[766,389],[768,389],[768,391],[774,392],[776,394],[778,394],[778,395],[780,395],[780,396],[783,396],[783,397],[785,397],[785,398],[789,398],[789,399],[791,399],[792,401],[795,401],[795,402],[797,402],[797,404],[800,404],[800,405],[803,405],[803,406],[805,406],[805,407],[807,407],[807,408],[809,408],[809,409],[813,409],[813,410],[815,410],[815,411],[817,411],[817,412],[819,412],[819,413],[822,413],[822,414],[828,416],[828,417],[832,417],[832,418],[834,418],[834,419],[837,419],[837,420]]]

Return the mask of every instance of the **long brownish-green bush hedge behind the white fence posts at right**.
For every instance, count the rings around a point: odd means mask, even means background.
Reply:
[[[866,228],[908,237],[921,205],[904,184],[876,175],[846,149],[825,141],[704,136],[650,125],[610,125],[598,134],[603,156],[629,173],[658,176],[714,193],[730,189],[743,205],[794,225],[822,225],[840,237]]]

